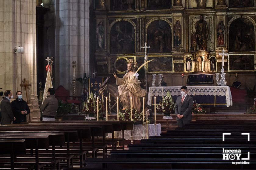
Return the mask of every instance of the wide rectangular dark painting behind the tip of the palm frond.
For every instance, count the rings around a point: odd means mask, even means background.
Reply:
[[[148,63],[148,73],[173,73],[172,56],[148,56],[148,60],[155,59]]]

